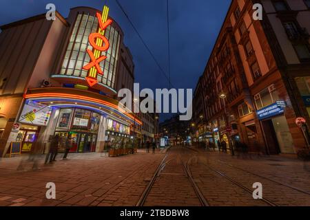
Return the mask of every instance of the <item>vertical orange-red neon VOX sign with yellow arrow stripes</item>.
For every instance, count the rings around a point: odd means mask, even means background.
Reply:
[[[102,52],[107,51],[110,47],[109,41],[104,36],[105,29],[112,24],[112,20],[107,19],[108,14],[109,8],[107,6],[103,7],[102,14],[98,12],[96,13],[99,28],[96,33],[92,33],[88,37],[88,41],[90,42],[90,45],[92,45],[93,50],[87,49],[87,54],[90,55],[90,63],[85,65],[83,69],[88,71],[85,80],[90,87],[93,87],[98,83],[97,74],[103,75],[99,63],[104,61],[107,56],[101,56],[101,54]]]

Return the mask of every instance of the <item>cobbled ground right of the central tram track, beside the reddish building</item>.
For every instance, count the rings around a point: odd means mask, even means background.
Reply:
[[[309,165],[280,156],[231,157],[222,152],[200,151],[191,169],[211,206],[269,206],[219,173],[250,190],[260,182],[262,197],[278,206],[310,206]]]

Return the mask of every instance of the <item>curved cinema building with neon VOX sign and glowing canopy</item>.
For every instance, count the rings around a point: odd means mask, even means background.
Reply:
[[[72,135],[71,152],[101,152],[107,140],[129,140],[130,127],[141,120],[118,109],[117,91],[133,88],[134,63],[123,44],[123,31],[111,19],[87,7],[72,8],[67,19],[56,12],[1,26],[0,33],[0,153],[31,151],[34,142],[43,152],[51,135]],[[90,35],[99,33],[96,48]],[[97,44],[99,42],[99,44]],[[96,51],[105,46],[99,54]],[[87,70],[94,58],[106,56]],[[18,151],[18,150],[17,150]]]

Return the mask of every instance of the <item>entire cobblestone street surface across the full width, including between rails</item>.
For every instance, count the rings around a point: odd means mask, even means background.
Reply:
[[[70,154],[44,165],[28,157],[0,159],[0,206],[135,206],[165,153],[139,151],[107,157]],[[310,163],[283,156],[234,156],[172,147],[145,206],[200,206],[183,164],[190,161],[194,181],[210,206],[269,206],[253,199],[254,182],[262,196],[279,206],[310,206]],[[33,168],[37,168],[33,170]],[[216,173],[216,171],[219,173]],[[223,177],[226,175],[245,188]],[[56,184],[56,199],[45,199],[45,184]]]

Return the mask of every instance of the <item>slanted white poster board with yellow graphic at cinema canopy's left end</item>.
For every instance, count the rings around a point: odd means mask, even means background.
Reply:
[[[52,108],[45,104],[40,104],[32,100],[26,100],[19,117],[19,122],[46,126],[50,120]]]

